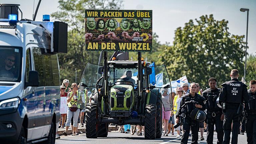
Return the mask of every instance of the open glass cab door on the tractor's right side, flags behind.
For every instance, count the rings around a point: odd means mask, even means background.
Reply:
[[[147,97],[147,104],[158,101],[157,97],[161,99],[161,95],[165,90],[168,90],[167,94],[169,94],[169,97],[172,97],[171,82],[170,82],[170,78],[169,78],[169,74],[166,69],[166,66],[162,64],[162,65],[150,66],[149,68],[152,69],[152,73],[149,75],[151,96],[150,98]],[[159,93],[161,93],[161,95]],[[171,102],[170,102],[170,105],[172,104],[173,104],[173,99],[171,99]],[[168,111],[169,110],[172,110],[172,106],[171,106],[171,109],[168,109]]]

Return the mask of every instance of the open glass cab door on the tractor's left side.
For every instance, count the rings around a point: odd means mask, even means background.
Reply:
[[[97,81],[102,77],[102,65],[88,63],[84,69],[81,81],[79,83],[79,95],[77,100],[77,108],[85,109],[91,96],[96,92],[96,84],[102,85],[102,81]]]

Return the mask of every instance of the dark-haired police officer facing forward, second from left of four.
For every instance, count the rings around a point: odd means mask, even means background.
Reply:
[[[214,124],[217,132],[217,144],[222,144],[224,131],[222,128],[224,114],[222,109],[217,106],[216,100],[219,97],[220,89],[216,88],[217,80],[214,77],[208,79],[210,88],[203,91],[203,97],[206,99],[206,109],[207,109],[207,144],[213,143],[213,132]]]

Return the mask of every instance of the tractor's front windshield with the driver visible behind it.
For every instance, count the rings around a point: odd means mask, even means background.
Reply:
[[[132,82],[134,86],[137,86],[137,75],[138,68],[110,68],[109,69],[109,85],[114,84],[126,84],[119,81],[129,81]],[[131,83],[130,83],[131,84]]]

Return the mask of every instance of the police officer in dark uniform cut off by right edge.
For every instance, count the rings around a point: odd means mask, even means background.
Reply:
[[[247,144],[256,144],[256,81],[250,81],[250,89],[248,90],[249,102],[245,105],[247,120],[245,122],[245,130],[247,136]]]

